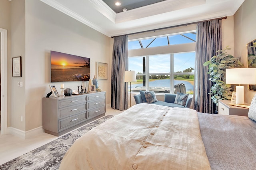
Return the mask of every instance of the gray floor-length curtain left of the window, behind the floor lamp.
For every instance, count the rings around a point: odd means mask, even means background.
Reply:
[[[124,74],[128,69],[128,36],[114,38],[111,75],[111,107],[112,109],[128,109],[128,84],[124,82]]]

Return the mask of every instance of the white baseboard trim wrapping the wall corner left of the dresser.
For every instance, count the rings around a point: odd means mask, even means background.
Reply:
[[[8,130],[8,133],[14,136],[20,137],[22,139],[31,138],[44,132],[44,129],[42,126],[28,130],[28,131],[23,131],[14,127],[8,127],[7,130]]]

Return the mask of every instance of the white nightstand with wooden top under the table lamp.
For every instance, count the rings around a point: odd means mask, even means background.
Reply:
[[[248,116],[248,108],[228,105],[228,103],[236,103],[230,100],[218,100],[218,114],[220,115],[238,115]],[[248,103],[245,103],[248,104]]]

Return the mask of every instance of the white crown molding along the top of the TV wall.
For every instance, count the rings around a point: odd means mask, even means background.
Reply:
[[[40,1],[42,1],[45,4],[51,6],[52,8],[55,8],[56,10],[59,10],[60,12],[63,12],[64,14],[78,20],[79,22],[82,22],[83,24],[86,24],[87,26],[93,28],[94,30],[108,36],[107,32],[104,29],[102,29],[100,26],[97,26],[96,24],[93,24],[89,20],[86,20],[84,17],[76,14],[75,12],[66,8],[62,4],[56,2],[55,0],[40,0]]]

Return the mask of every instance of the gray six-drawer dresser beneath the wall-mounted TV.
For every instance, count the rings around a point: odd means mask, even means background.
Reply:
[[[106,92],[44,97],[44,132],[60,136],[106,113]]]

